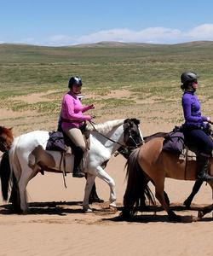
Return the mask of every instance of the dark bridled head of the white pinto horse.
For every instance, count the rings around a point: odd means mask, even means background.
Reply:
[[[143,137],[139,128],[140,120],[124,120],[124,143],[128,148],[138,148],[143,143]]]

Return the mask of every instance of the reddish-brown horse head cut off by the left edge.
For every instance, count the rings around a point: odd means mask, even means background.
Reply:
[[[11,148],[14,141],[12,128],[0,126],[0,151],[5,152]]]

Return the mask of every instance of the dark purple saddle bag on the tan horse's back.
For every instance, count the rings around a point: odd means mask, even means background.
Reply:
[[[164,138],[163,150],[174,154],[181,154],[184,148],[184,135],[181,131],[171,131]]]

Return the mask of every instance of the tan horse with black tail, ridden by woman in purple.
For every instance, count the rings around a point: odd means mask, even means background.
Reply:
[[[141,207],[144,196],[154,201],[153,194],[147,183],[151,181],[155,187],[155,196],[168,213],[170,220],[181,221],[181,217],[170,209],[164,197],[164,180],[170,177],[179,180],[196,179],[196,161],[179,160],[178,155],[163,151],[164,138],[158,137],[148,141],[141,148],[130,154],[127,162],[127,188],[124,194],[124,210],[122,216],[130,218],[136,207]],[[210,175],[213,165],[210,162]],[[213,189],[213,182],[210,182]],[[199,211],[199,218],[212,211],[213,204]]]

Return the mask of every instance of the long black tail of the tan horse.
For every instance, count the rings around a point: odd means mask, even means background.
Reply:
[[[140,148],[136,148],[127,160],[127,186],[124,194],[124,208],[121,216],[131,218],[138,209],[146,206],[146,199],[155,204],[152,191],[147,183],[148,178],[137,161]],[[134,207],[135,206],[135,207]]]

